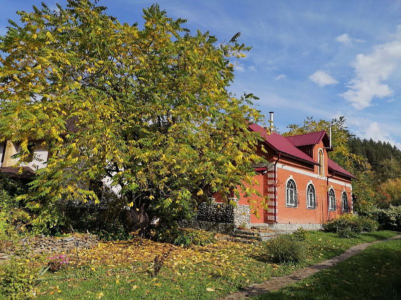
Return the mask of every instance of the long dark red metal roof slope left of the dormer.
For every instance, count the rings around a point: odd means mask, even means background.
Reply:
[[[257,124],[248,126],[251,130],[259,132],[265,139],[267,144],[273,147],[276,151],[287,154],[286,156],[302,160],[312,164],[318,164],[309,155],[295,147],[285,136],[277,134],[276,132],[268,133],[267,129]]]

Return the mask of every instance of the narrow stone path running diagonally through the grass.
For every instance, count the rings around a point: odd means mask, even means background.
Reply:
[[[364,249],[366,249],[368,246],[370,246],[372,244],[375,244],[378,242],[383,242],[383,241],[388,241],[391,239],[399,239],[399,238],[401,238],[401,234],[398,234],[396,236],[393,236],[393,237],[390,237],[387,239],[375,240],[372,242],[367,242],[367,243],[362,243],[362,244],[352,246],[348,250],[346,250],[344,253],[342,253],[338,256],[332,257],[330,259],[327,259],[325,261],[311,265],[309,267],[296,270],[295,272],[293,272],[289,275],[286,275],[286,276],[273,277],[272,279],[264,281],[262,283],[247,286],[240,291],[237,291],[233,294],[230,294],[226,297],[221,298],[220,300],[247,299],[252,296],[267,293],[268,291],[278,290],[288,284],[300,281],[322,269],[328,268],[330,266],[337,264],[338,262],[344,261],[348,257],[358,254],[359,252],[363,251]]]

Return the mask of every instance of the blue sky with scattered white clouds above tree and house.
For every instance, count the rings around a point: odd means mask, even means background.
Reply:
[[[50,7],[56,1],[44,0]],[[16,10],[38,0],[0,0],[0,34]],[[64,0],[57,1],[64,4]],[[99,0],[120,22],[142,22],[154,1]],[[401,0],[159,0],[186,28],[209,30],[219,41],[241,32],[252,46],[236,61],[230,91],[254,93],[274,111],[280,132],[307,116],[345,115],[351,132],[401,148]],[[268,118],[268,116],[267,116]]]

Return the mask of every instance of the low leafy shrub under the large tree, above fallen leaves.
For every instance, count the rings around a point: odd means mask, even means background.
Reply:
[[[204,246],[216,241],[213,232],[178,227],[157,227],[153,237],[158,241],[184,247],[190,245]]]

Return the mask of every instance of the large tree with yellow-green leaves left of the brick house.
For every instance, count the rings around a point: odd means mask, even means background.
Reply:
[[[247,124],[262,115],[252,94],[228,90],[230,58],[249,50],[239,34],[191,34],[158,5],[138,26],[67,3],[18,11],[0,43],[1,140],[21,142],[20,161],[30,138],[51,153],[26,195],[38,222],[60,199],[98,201],[87,187],[99,178],[121,188],[123,204],[169,215],[252,183],[260,136]]]

